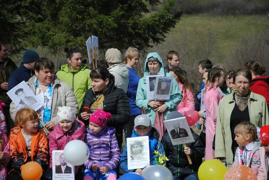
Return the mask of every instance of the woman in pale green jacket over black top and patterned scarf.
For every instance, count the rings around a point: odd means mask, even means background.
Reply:
[[[226,159],[228,169],[232,167],[233,151],[236,148],[234,127],[241,121],[249,121],[259,128],[269,124],[266,100],[263,96],[249,90],[251,80],[250,71],[237,70],[233,75],[235,89],[219,103],[215,158]]]

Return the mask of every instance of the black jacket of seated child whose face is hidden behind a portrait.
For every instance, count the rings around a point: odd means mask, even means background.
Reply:
[[[191,128],[190,128],[191,129]],[[167,168],[176,175],[190,175],[198,172],[199,166],[202,163],[204,157],[204,145],[202,144],[200,137],[192,131],[194,142],[187,143],[187,147],[190,147],[190,158],[192,165],[189,164],[186,154],[184,153],[184,147],[180,145],[172,145],[171,139],[168,133],[162,136],[162,144],[164,146],[165,155],[169,161],[166,162]]]

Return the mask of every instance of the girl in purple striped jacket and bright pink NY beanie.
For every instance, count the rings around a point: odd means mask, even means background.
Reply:
[[[98,109],[90,116],[86,144],[90,157],[85,163],[84,180],[116,180],[116,167],[121,158],[115,128],[107,127],[110,113]]]

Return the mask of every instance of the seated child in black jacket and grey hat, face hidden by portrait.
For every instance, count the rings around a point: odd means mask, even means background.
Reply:
[[[183,117],[178,111],[171,112],[166,120]],[[162,145],[164,151],[169,159],[166,162],[168,169],[172,172],[173,179],[193,179],[198,180],[198,169],[202,164],[202,158],[204,157],[204,145],[202,144],[200,137],[193,132],[190,128],[194,142],[187,143],[187,147],[184,148],[182,144],[173,145],[169,137],[168,132],[162,136]],[[171,133],[172,136],[172,133]],[[187,155],[190,156],[192,164],[189,164]]]

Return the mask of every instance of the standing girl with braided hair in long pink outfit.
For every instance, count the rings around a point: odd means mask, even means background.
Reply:
[[[212,144],[215,135],[215,126],[217,124],[218,104],[222,98],[218,87],[221,87],[225,81],[224,70],[214,67],[208,72],[208,81],[211,82],[204,92],[204,105],[206,108],[206,160],[214,159]]]

